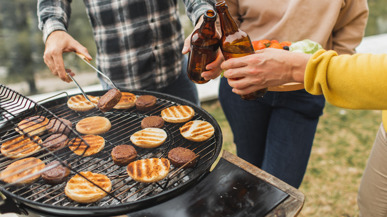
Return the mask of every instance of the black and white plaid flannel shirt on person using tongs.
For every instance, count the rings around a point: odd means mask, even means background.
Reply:
[[[195,24],[214,0],[183,0]],[[66,31],[71,0],[38,0],[43,40]],[[177,0],[84,0],[97,45],[99,70],[118,87],[154,90],[171,84],[182,69],[183,28]],[[185,67],[185,66],[184,66]],[[100,75],[98,75],[100,76]]]

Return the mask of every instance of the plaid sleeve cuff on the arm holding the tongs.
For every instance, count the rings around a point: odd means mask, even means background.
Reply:
[[[69,0],[38,0],[39,29],[43,31],[43,42],[56,30],[67,31],[70,19]]]

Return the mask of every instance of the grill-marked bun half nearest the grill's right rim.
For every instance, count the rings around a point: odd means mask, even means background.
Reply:
[[[193,120],[180,127],[180,133],[182,136],[194,142],[207,140],[211,138],[214,132],[214,127],[207,121],[203,120]]]

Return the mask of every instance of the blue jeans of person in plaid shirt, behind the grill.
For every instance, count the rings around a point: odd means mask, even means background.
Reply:
[[[154,91],[158,93],[173,95],[173,96],[191,101],[194,104],[200,106],[196,86],[194,82],[192,82],[187,76],[187,64],[188,64],[188,57],[187,55],[185,55],[181,73],[174,82],[172,82],[167,87],[159,88],[159,89],[154,88],[147,91]],[[104,90],[108,90],[112,88],[112,86],[110,86],[110,83],[106,83],[106,81],[103,78],[100,78],[99,80]]]

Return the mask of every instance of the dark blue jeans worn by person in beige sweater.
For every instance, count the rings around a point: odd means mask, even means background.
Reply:
[[[268,91],[260,99],[243,101],[231,89],[222,78],[219,101],[238,156],[298,188],[323,114],[323,95],[313,96],[305,90]]]

